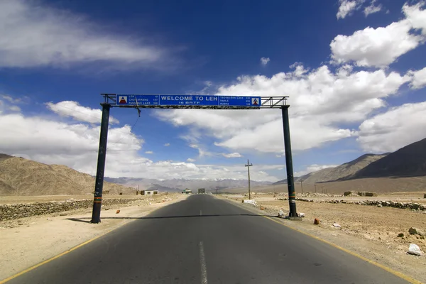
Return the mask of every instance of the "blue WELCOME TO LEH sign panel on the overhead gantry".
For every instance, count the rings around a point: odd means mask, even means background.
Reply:
[[[261,107],[261,97],[171,95],[171,94],[117,94],[119,106],[204,106],[204,107]]]

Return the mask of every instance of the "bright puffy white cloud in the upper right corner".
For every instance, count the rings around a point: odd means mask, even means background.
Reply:
[[[358,66],[385,67],[400,55],[416,48],[424,36],[410,33],[412,28],[425,28],[421,5],[403,6],[406,18],[386,27],[367,27],[352,35],[337,35],[330,47],[332,59],[337,63],[356,62]],[[425,31],[425,29],[423,30]]]

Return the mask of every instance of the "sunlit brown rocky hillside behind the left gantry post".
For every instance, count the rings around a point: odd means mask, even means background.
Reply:
[[[0,155],[0,195],[90,195],[94,178],[65,165],[46,165]],[[134,193],[133,188],[104,182],[109,194]]]

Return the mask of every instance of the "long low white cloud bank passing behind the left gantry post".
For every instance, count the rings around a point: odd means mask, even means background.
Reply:
[[[0,109],[3,106],[0,101]],[[67,124],[55,119],[0,112],[0,153],[22,156],[41,163],[62,164],[95,175],[99,126]],[[111,178],[234,178],[246,179],[244,165],[195,165],[177,161],[154,163],[138,154],[143,139],[126,125],[109,129],[105,176]],[[150,151],[147,151],[150,152]],[[194,162],[188,159],[188,162]],[[265,170],[282,165],[256,165],[253,180],[277,178]]]

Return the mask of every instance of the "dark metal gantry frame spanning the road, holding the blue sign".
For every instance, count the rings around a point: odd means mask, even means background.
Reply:
[[[97,173],[94,187],[94,200],[91,223],[101,222],[101,206],[102,206],[102,190],[104,187],[104,171],[105,171],[105,158],[107,154],[107,140],[108,140],[108,125],[109,125],[109,111],[111,107],[132,108],[132,109],[281,109],[283,116],[283,133],[284,133],[284,146],[285,146],[285,165],[287,171],[288,182],[288,202],[290,207],[289,217],[297,217],[296,200],[295,200],[295,185],[293,178],[293,158],[291,155],[290,143],[290,124],[288,121],[288,108],[287,96],[280,97],[261,97],[261,105],[259,107],[233,107],[233,106],[197,106],[197,105],[120,105],[117,104],[116,94],[101,94],[104,97],[102,106],[102,121],[101,133],[99,138],[99,152],[97,160]],[[148,95],[148,94],[143,94]],[[151,95],[167,95],[167,94],[151,94]],[[173,94],[174,95],[174,94]],[[185,96],[188,96],[185,94]],[[194,94],[195,96],[195,94]],[[247,161],[247,168],[250,164]],[[249,178],[249,198],[250,198],[250,178]]]

